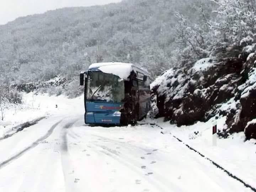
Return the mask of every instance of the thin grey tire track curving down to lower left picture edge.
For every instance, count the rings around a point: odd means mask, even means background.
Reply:
[[[60,120],[59,122],[55,123],[49,130],[48,132],[41,138],[37,139],[34,143],[32,143],[32,145],[28,146],[27,148],[23,149],[22,151],[20,151],[19,153],[17,153],[16,155],[12,156],[11,158],[3,161],[0,163],[0,169],[2,169],[4,166],[6,166],[7,164],[11,163],[12,161],[18,159],[20,156],[22,156],[24,153],[26,153],[28,150],[36,147],[40,142],[42,142],[43,140],[47,139],[52,133],[53,130],[58,126],[58,124],[61,122],[62,120]]]

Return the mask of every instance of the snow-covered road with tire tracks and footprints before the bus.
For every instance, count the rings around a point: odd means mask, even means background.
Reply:
[[[0,191],[251,191],[159,128],[51,116],[0,141]]]

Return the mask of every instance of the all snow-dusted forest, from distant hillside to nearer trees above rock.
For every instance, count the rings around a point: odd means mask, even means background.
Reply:
[[[252,0],[124,0],[20,17],[0,26],[1,86],[76,81],[96,62],[128,62],[151,78],[255,41]]]

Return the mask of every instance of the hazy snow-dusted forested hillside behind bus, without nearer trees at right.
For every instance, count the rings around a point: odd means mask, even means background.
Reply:
[[[25,83],[73,78],[91,63],[116,61],[142,66],[154,78],[180,63],[181,20],[206,30],[203,18],[210,20],[214,7],[208,3],[127,0],[21,17],[0,26],[0,71],[11,82]]]

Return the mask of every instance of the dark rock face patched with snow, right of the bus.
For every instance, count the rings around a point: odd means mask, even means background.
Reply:
[[[166,71],[151,84],[158,107],[156,117],[181,126],[227,116],[226,129],[220,135],[244,131],[256,118],[255,60],[256,54],[242,52],[238,58],[205,58],[191,68]],[[254,137],[255,125],[246,133],[248,139]]]

